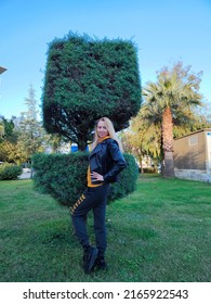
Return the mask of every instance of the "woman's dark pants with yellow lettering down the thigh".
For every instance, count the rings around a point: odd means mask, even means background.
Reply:
[[[76,204],[71,207],[71,219],[76,236],[82,246],[89,245],[87,231],[87,215],[93,210],[94,232],[98,255],[104,256],[106,242],[106,204],[109,183],[104,183],[95,188],[87,188]]]

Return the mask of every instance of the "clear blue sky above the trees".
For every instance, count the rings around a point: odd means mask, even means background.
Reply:
[[[142,86],[156,71],[183,61],[203,71],[200,92],[211,103],[211,0],[0,0],[0,114],[26,110],[31,84],[38,103],[48,43],[69,30],[91,37],[132,39]]]

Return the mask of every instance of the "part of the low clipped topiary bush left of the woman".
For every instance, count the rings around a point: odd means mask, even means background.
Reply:
[[[36,189],[63,205],[74,204],[85,188],[88,153],[36,154],[32,157]]]

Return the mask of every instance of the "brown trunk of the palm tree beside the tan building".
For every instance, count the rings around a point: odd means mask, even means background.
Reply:
[[[167,106],[162,113],[162,144],[164,152],[163,177],[174,177],[173,124],[170,106]]]

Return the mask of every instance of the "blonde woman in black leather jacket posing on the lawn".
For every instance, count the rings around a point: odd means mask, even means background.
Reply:
[[[71,207],[71,218],[76,236],[83,248],[83,269],[89,274],[94,267],[105,269],[106,203],[109,183],[116,182],[118,174],[126,168],[122,147],[116,136],[113,123],[102,117],[95,126],[92,152],[89,159],[88,188]],[[96,248],[90,245],[87,231],[87,215],[94,215]]]

